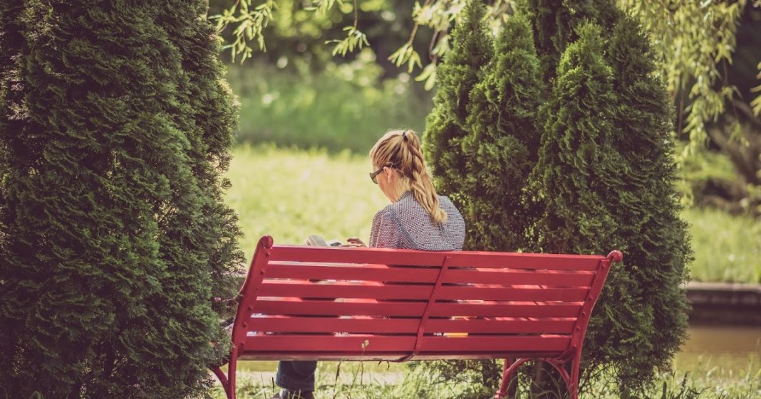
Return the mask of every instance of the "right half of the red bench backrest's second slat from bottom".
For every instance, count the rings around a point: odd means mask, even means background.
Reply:
[[[571,334],[575,318],[535,319],[525,318],[470,318],[428,319],[426,333],[466,333],[466,334]]]

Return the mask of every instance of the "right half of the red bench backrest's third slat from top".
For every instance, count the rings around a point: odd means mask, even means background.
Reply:
[[[440,300],[483,299],[495,301],[583,301],[586,288],[507,288],[505,286],[447,286],[436,295]]]

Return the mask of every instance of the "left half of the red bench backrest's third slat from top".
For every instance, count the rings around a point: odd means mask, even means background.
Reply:
[[[346,282],[312,283],[300,280],[265,280],[260,296],[304,298],[428,299],[433,287],[424,285],[365,285]]]

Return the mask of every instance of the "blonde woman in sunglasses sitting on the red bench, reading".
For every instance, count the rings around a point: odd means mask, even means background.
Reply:
[[[375,169],[370,179],[391,201],[373,218],[371,247],[463,249],[463,217],[449,198],[436,194],[414,131],[389,131],[370,150],[370,159]],[[365,246],[361,239],[348,241]],[[283,389],[272,399],[313,399],[316,368],[312,361],[280,362],[275,383]]]

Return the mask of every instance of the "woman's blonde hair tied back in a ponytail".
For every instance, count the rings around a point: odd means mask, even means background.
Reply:
[[[396,169],[400,176],[396,188],[400,192],[412,191],[412,195],[431,215],[434,223],[447,221],[447,213],[439,207],[431,175],[425,169],[420,139],[415,131],[388,131],[370,150],[370,159],[375,168],[390,164],[390,167]]]

